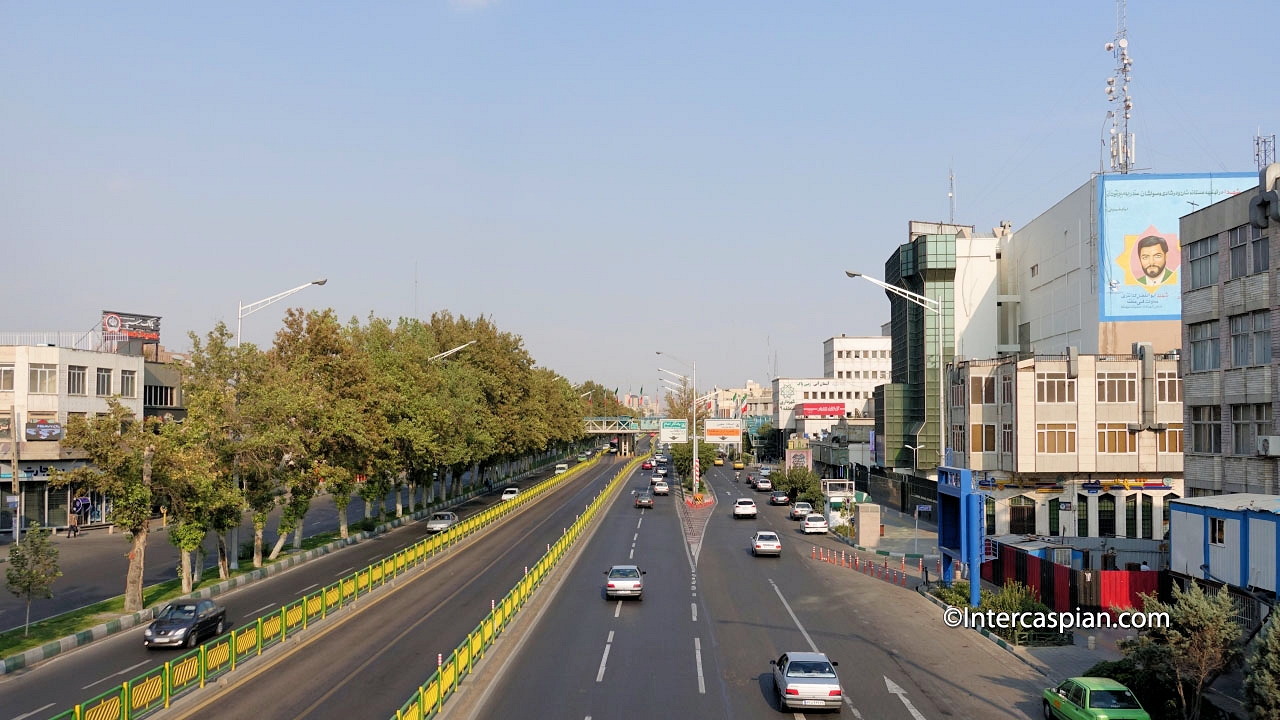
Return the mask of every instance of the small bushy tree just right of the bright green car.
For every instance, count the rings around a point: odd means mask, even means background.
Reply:
[[[1196,583],[1183,591],[1174,585],[1171,603],[1143,597],[1144,612],[1167,612],[1169,628],[1152,628],[1121,652],[1139,670],[1164,678],[1172,685],[1176,710],[1187,720],[1198,720],[1204,689],[1242,659],[1240,626],[1226,592],[1208,594]]]

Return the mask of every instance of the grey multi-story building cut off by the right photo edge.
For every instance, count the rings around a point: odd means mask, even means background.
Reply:
[[[1187,493],[1280,493],[1271,332],[1280,290],[1280,164],[1257,186],[1181,218]]]

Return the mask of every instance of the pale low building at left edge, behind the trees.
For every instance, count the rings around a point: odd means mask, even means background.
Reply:
[[[5,419],[0,427],[0,483],[8,493],[17,443],[19,512],[26,523],[67,525],[72,489],[50,488],[50,470],[69,470],[84,461],[63,442],[63,428],[77,415],[106,413],[110,397],[142,418],[145,365],[141,356],[114,352],[0,346],[0,418]],[[101,520],[104,498],[92,500],[96,516],[87,520]],[[13,519],[8,503],[0,507],[0,532],[13,532]]]

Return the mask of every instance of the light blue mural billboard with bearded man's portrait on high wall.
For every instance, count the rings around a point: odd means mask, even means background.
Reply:
[[[1256,173],[1101,176],[1098,320],[1180,320],[1179,218],[1256,187]]]

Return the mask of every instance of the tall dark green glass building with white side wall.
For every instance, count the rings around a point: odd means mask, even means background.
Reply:
[[[936,475],[945,457],[941,369],[957,356],[993,355],[1001,236],[916,220],[908,236],[884,263],[884,282],[937,302],[940,311],[886,291],[892,366],[888,382],[874,391],[873,462],[923,477]]]

